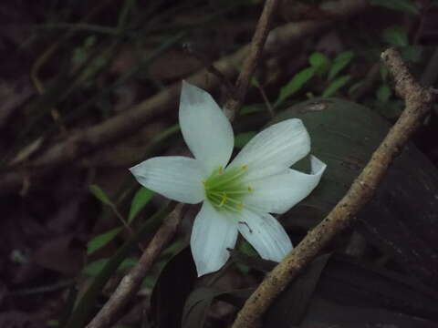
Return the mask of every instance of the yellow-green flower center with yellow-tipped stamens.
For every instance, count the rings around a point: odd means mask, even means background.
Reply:
[[[249,186],[245,186],[243,175],[248,169],[244,165],[238,169],[225,169],[220,167],[214,169],[212,175],[203,182],[205,196],[216,210],[239,211],[244,207],[242,199],[245,194],[253,191]]]

